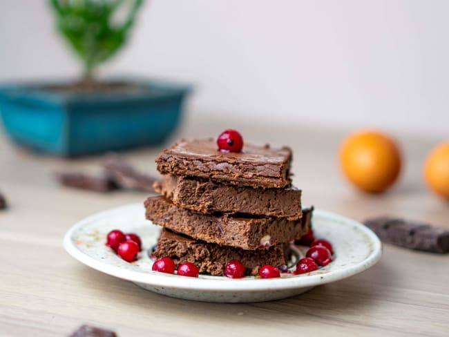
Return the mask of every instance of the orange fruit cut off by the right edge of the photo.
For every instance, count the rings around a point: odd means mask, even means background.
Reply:
[[[437,146],[430,153],[424,177],[432,191],[449,200],[449,142]]]

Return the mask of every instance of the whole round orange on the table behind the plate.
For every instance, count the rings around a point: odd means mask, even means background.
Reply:
[[[340,162],[347,179],[368,193],[385,191],[401,171],[401,154],[396,142],[376,131],[347,137],[341,146]]]

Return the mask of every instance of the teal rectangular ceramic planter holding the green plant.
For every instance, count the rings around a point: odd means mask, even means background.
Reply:
[[[44,89],[55,84],[0,86],[3,126],[17,144],[70,157],[163,142],[178,124],[189,87],[126,83],[138,90],[79,95]]]

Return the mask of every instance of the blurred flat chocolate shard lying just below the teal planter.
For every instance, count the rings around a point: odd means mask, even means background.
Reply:
[[[86,175],[84,173],[57,173],[57,179],[61,185],[88,191],[106,193],[118,189],[117,184],[108,177]]]

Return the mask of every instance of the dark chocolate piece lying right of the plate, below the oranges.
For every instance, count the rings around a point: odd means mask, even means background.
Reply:
[[[449,252],[448,229],[389,217],[366,220],[365,225],[383,242],[432,253]]]

